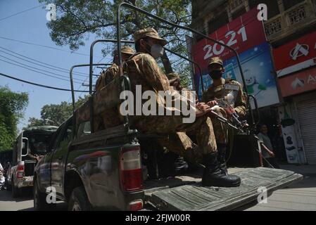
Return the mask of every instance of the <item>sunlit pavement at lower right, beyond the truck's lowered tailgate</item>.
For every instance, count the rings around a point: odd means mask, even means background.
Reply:
[[[287,188],[274,191],[267,198],[267,204],[248,205],[244,210],[316,211],[316,165],[280,165],[280,167],[303,174],[304,179]]]

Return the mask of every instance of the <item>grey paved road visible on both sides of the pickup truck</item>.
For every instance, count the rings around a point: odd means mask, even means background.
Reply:
[[[274,191],[267,198],[267,204],[249,204],[238,210],[247,211],[274,211],[274,210],[312,210],[316,211],[316,165],[314,166],[289,166],[284,165],[282,169],[289,169],[303,174],[303,181],[297,184]],[[57,203],[56,210],[66,210],[65,203]],[[21,198],[12,198],[11,192],[0,191],[0,211],[24,210],[32,211],[32,189],[28,190]]]

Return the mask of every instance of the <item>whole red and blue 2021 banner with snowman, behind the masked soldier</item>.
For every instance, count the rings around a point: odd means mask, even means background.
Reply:
[[[210,34],[210,37],[236,49],[241,59],[248,94],[253,94],[257,98],[258,106],[264,107],[279,103],[279,96],[274,79],[270,45],[267,44],[263,22],[258,20],[257,15],[258,10],[253,8]],[[224,60],[225,77],[236,79],[243,84],[236,56],[229,49],[203,39],[192,46],[191,54],[203,70],[204,89],[208,89],[212,83],[208,76],[208,62],[215,56]],[[198,87],[198,96],[201,97],[201,77],[198,70],[195,71],[194,83]]]

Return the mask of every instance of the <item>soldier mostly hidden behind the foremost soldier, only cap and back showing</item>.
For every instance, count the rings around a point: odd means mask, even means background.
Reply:
[[[130,56],[134,55],[134,50],[129,46],[122,46],[122,63],[124,63]],[[118,50],[113,52],[113,65],[107,70],[101,72],[100,77],[96,80],[96,91],[100,91],[103,86],[113,81],[114,77],[118,75]]]

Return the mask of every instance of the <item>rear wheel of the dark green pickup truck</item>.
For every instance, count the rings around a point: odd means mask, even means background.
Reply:
[[[73,189],[69,202],[68,202],[69,211],[90,211],[91,204],[84,187],[80,186]]]

